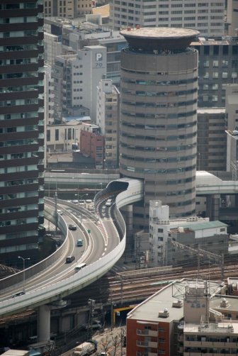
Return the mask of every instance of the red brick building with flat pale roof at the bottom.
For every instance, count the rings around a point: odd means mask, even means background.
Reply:
[[[174,302],[168,286],[128,313],[127,355],[175,355],[171,335],[183,318],[183,308],[173,307]]]

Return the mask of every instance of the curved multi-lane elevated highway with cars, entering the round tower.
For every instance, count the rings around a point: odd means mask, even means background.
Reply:
[[[100,216],[98,206],[108,197],[113,198],[113,218]],[[106,189],[96,194],[94,204],[97,208],[96,216],[91,215],[86,221],[81,221],[75,214],[71,214],[72,221],[77,223],[88,239],[88,248],[79,262],[86,261],[86,267],[75,273],[74,266],[62,273],[55,267],[60,262],[64,264],[65,250],[69,250],[69,230],[64,215],[55,215],[55,208],[46,208],[45,217],[52,222],[58,219],[58,226],[65,239],[55,253],[37,265],[18,272],[0,281],[0,316],[23,311],[26,308],[39,307],[39,341],[50,339],[50,308],[64,306],[62,298],[86,287],[106,274],[125,250],[126,228],[120,208],[143,197],[143,184],[135,179],[118,179],[108,184]],[[62,204],[63,201],[57,201]],[[65,204],[65,202],[64,202]],[[67,203],[69,208],[74,206]],[[83,219],[84,220],[84,219]],[[49,277],[54,273],[54,280]],[[30,286],[30,287],[29,287]],[[11,298],[15,291],[23,290],[26,294]]]

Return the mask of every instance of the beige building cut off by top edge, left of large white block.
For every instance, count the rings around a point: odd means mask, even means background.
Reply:
[[[45,16],[77,18],[81,14],[91,13],[91,0],[45,0]]]

